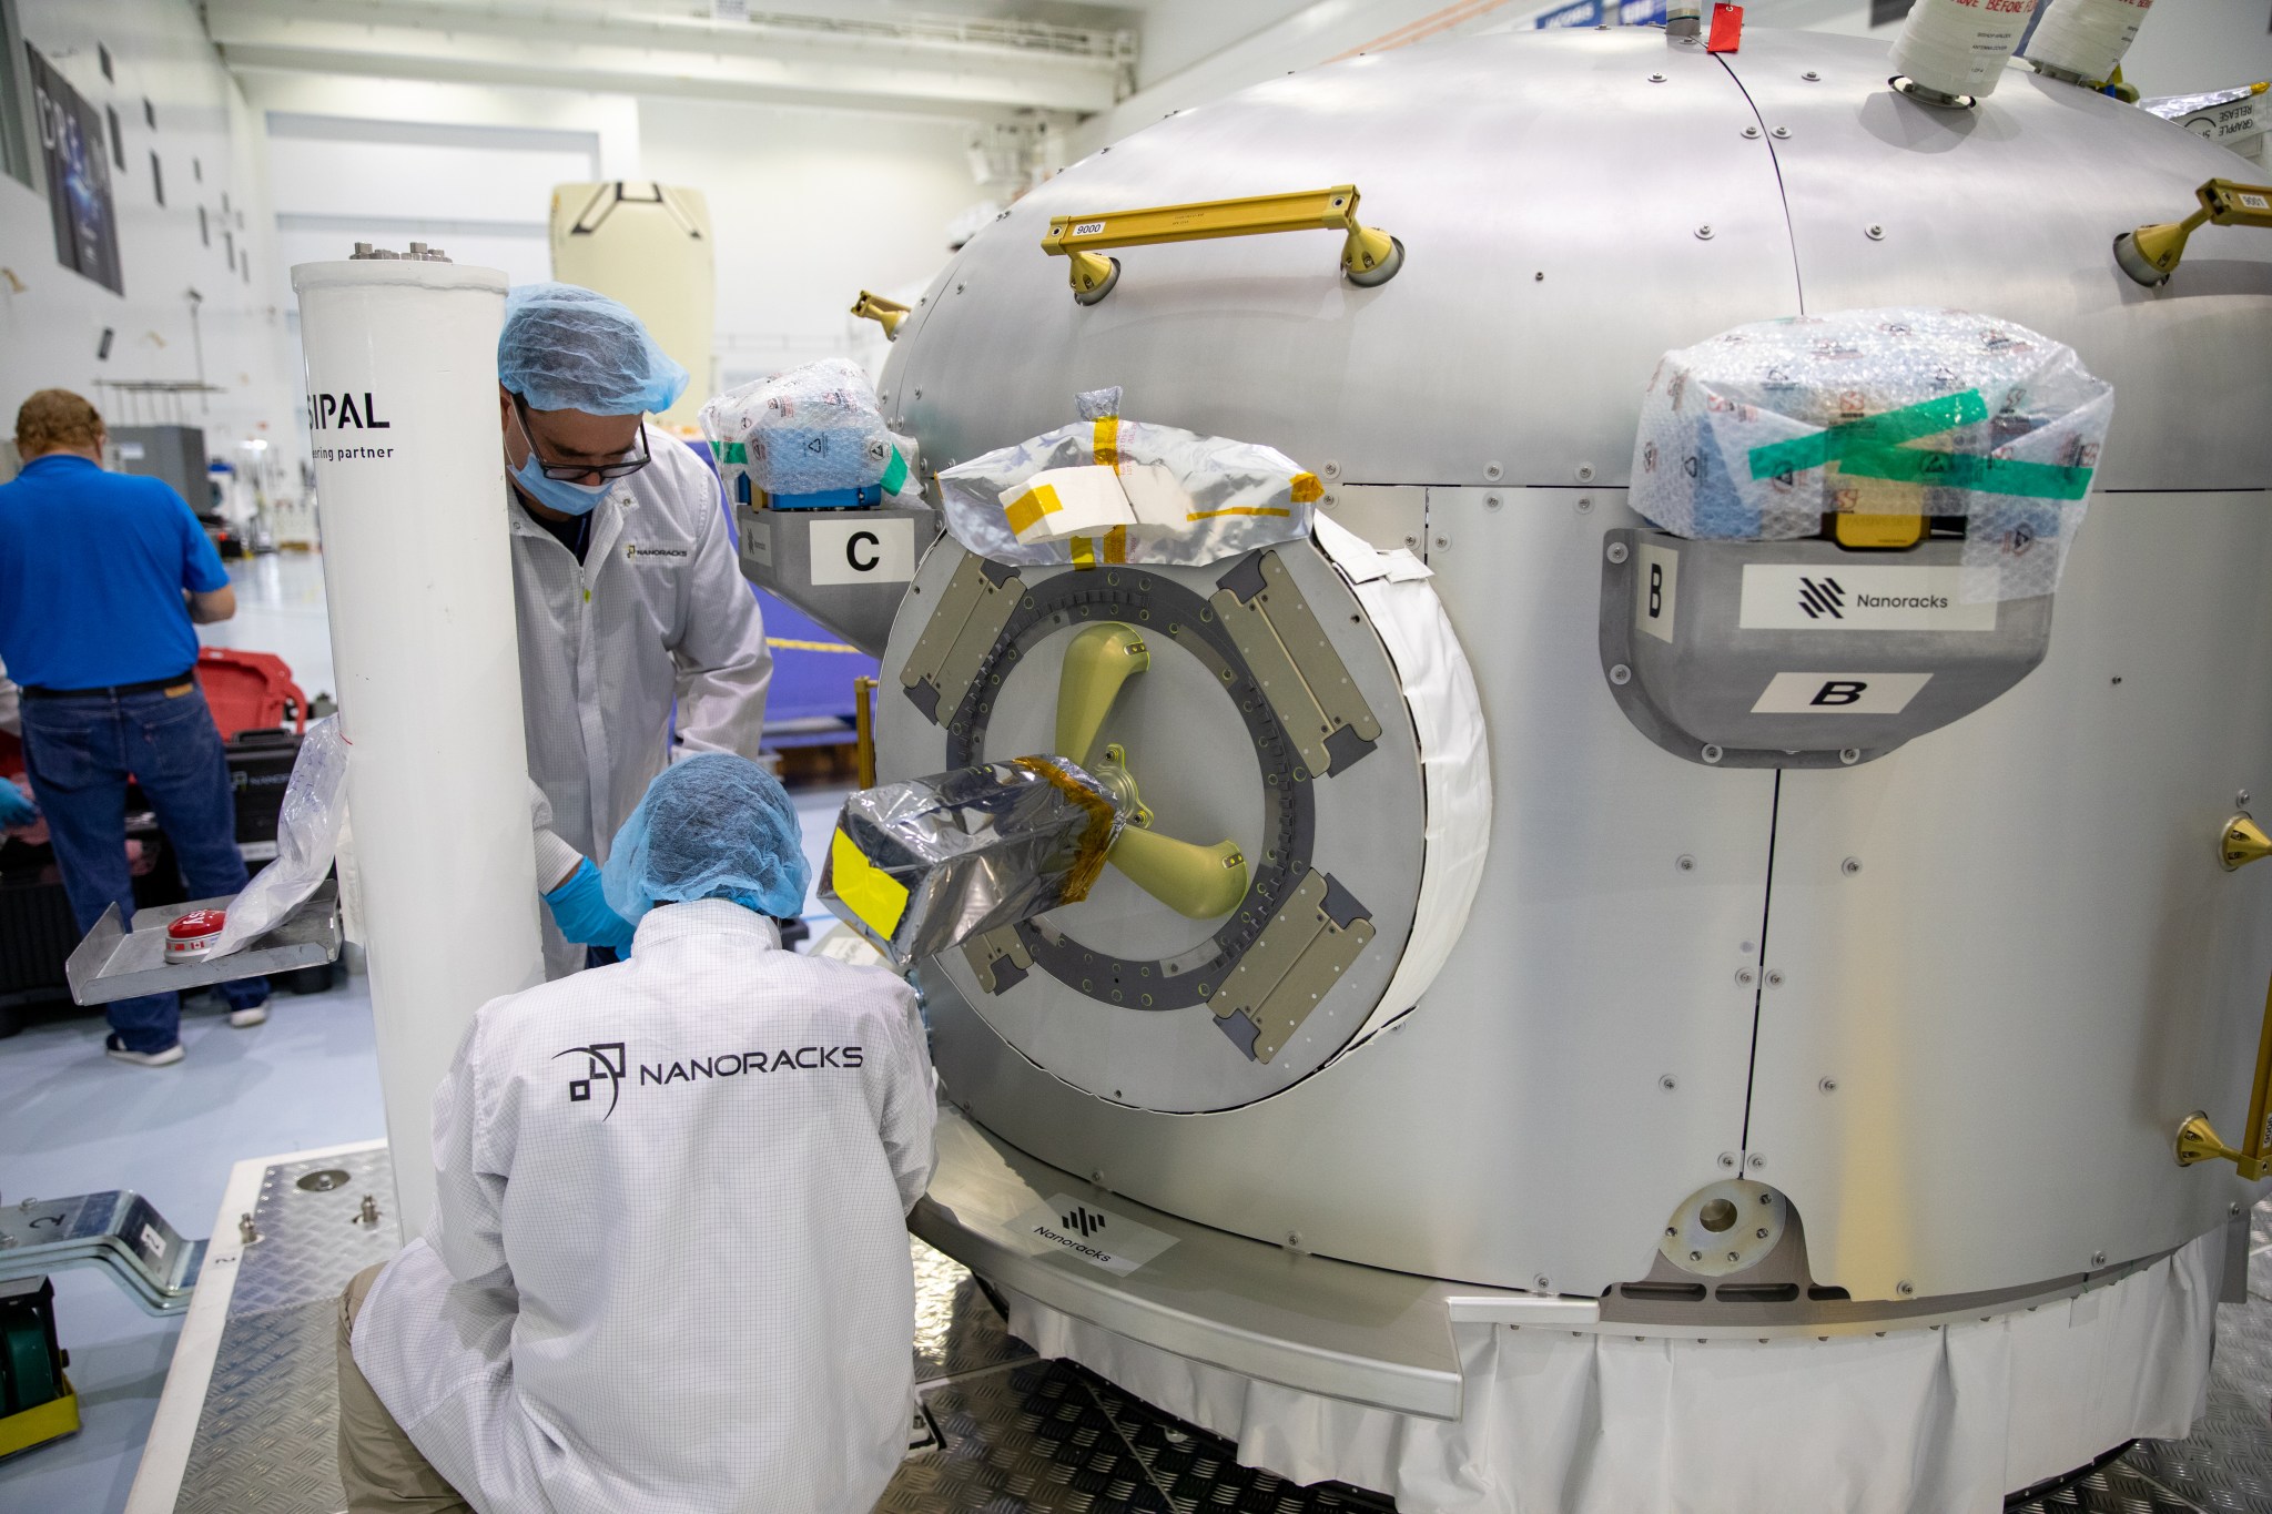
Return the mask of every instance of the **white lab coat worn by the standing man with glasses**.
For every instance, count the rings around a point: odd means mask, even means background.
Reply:
[[[593,863],[673,756],[757,756],[772,681],[716,474],[670,436],[650,429],[648,445],[654,461],[593,508],[582,563],[518,499],[504,506],[529,779],[552,801],[552,831]],[[579,965],[584,949],[543,924],[554,976]]]

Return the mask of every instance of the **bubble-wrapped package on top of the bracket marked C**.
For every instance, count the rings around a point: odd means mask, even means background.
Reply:
[[[868,488],[891,465],[891,431],[868,375],[820,359],[743,384],[702,406],[702,436],[741,443],[768,495]]]

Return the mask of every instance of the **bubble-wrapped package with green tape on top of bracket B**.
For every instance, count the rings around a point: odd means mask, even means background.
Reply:
[[[2027,327],[1883,309],[1761,320],[1668,352],[1631,506],[1690,538],[1793,540],[1824,515],[1963,515],[1958,592],[2058,586],[2113,386]]]

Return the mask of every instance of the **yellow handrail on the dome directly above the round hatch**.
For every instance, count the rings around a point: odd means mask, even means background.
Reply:
[[[1386,284],[1404,266],[1404,243],[1379,227],[1359,225],[1354,184],[1304,188],[1290,195],[1056,216],[1050,220],[1050,234],[1041,238],[1041,250],[1070,259],[1072,297],[1081,304],[1095,304],[1120,281],[1120,259],[1104,256],[1104,247],[1195,243],[1211,236],[1266,236],[1270,232],[1343,232],[1340,272],[1350,284],[1363,288]]]

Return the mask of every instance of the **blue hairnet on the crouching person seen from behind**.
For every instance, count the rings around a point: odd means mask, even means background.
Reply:
[[[657,903],[732,899],[759,915],[804,912],[811,869],[782,781],[750,758],[704,751],[654,776],[600,869],[629,922]]]

